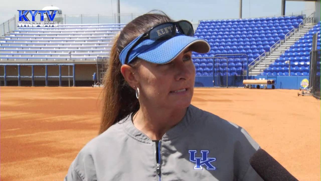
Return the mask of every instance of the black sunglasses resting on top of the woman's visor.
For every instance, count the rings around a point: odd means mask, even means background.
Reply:
[[[177,22],[167,22],[158,24],[151,29],[149,29],[146,33],[144,33],[134,45],[128,50],[125,64],[128,62],[129,53],[141,42],[144,40],[150,39],[153,41],[164,41],[168,40],[176,35],[176,31],[182,33],[186,36],[194,36],[193,25],[186,20],[181,20]]]

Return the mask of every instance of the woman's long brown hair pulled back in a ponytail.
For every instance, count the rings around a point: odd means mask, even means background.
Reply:
[[[108,69],[103,79],[103,107],[99,134],[131,112],[139,109],[139,101],[136,99],[135,90],[128,85],[120,72],[120,67],[122,66],[119,61],[120,52],[140,34],[145,33],[157,24],[170,21],[172,20],[164,13],[143,14],[128,23],[115,37],[109,53]],[[138,61],[133,61],[128,65],[135,68],[137,64]]]

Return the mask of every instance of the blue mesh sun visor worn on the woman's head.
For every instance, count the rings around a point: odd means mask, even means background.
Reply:
[[[142,34],[143,35],[143,34]],[[124,65],[127,52],[142,36],[138,36],[129,43],[122,52],[120,52],[119,60]],[[147,62],[164,64],[175,59],[178,54],[186,48],[198,53],[207,53],[210,51],[210,45],[204,39],[186,36],[176,33],[176,36],[164,41],[153,41],[150,39],[139,43],[129,54],[128,63],[135,58],[141,58]]]

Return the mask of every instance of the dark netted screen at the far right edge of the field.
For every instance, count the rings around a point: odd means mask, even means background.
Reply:
[[[321,50],[311,51],[310,54],[310,93],[317,99],[321,98],[320,94],[320,64]]]

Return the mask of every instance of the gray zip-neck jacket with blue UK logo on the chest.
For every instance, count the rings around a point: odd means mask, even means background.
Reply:
[[[158,144],[130,114],[82,148],[65,181],[262,181],[249,164],[258,149],[243,128],[193,105]]]

